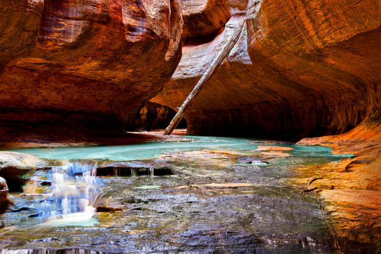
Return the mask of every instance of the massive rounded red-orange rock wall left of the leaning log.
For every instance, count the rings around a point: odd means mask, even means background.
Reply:
[[[2,122],[128,122],[181,57],[177,0],[5,0],[0,16]]]

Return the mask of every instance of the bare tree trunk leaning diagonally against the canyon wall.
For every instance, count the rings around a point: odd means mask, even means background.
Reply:
[[[188,96],[188,98],[184,101],[183,105],[181,105],[179,111],[176,113],[175,117],[172,119],[169,126],[165,129],[164,135],[169,135],[172,133],[174,128],[179,124],[181,119],[183,118],[184,113],[187,111],[187,109],[191,106],[194,99],[196,98],[197,94],[201,91],[202,87],[205,85],[205,83],[209,80],[209,78],[213,75],[214,71],[218,68],[218,66],[222,63],[222,61],[225,59],[225,57],[229,54],[229,52],[233,49],[234,45],[236,45],[238,39],[240,38],[240,34],[242,31],[242,28],[245,24],[244,19],[241,24],[238,26],[228,43],[224,46],[220,54],[218,54],[217,58],[214,59],[213,63],[210,64],[209,68],[206,70],[206,72],[202,75],[198,83],[194,86],[191,94]]]

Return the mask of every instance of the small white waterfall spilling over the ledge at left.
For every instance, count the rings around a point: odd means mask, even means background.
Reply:
[[[52,192],[40,206],[44,219],[90,219],[102,194],[95,177],[97,164],[67,163],[52,167]]]

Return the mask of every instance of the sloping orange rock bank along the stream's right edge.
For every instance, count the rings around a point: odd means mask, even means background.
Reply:
[[[377,114],[374,115],[375,117]],[[316,187],[344,253],[381,248],[381,125],[367,119],[340,135],[305,138],[298,145],[330,146],[354,157],[319,166],[301,167],[292,183]],[[310,181],[316,179],[316,181]]]

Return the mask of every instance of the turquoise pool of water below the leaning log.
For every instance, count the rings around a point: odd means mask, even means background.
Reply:
[[[165,153],[209,150],[228,150],[242,154],[253,154],[258,145],[268,145],[263,140],[252,140],[246,138],[229,137],[205,137],[189,136],[192,142],[153,142],[132,145],[116,146],[93,146],[93,147],[64,147],[64,148],[31,148],[16,149],[15,152],[28,153],[43,159],[109,159],[114,161],[144,160],[159,157]],[[331,155],[331,148],[324,146],[300,146],[283,142],[276,142],[278,145],[292,147],[295,155],[301,156],[328,156]]]

